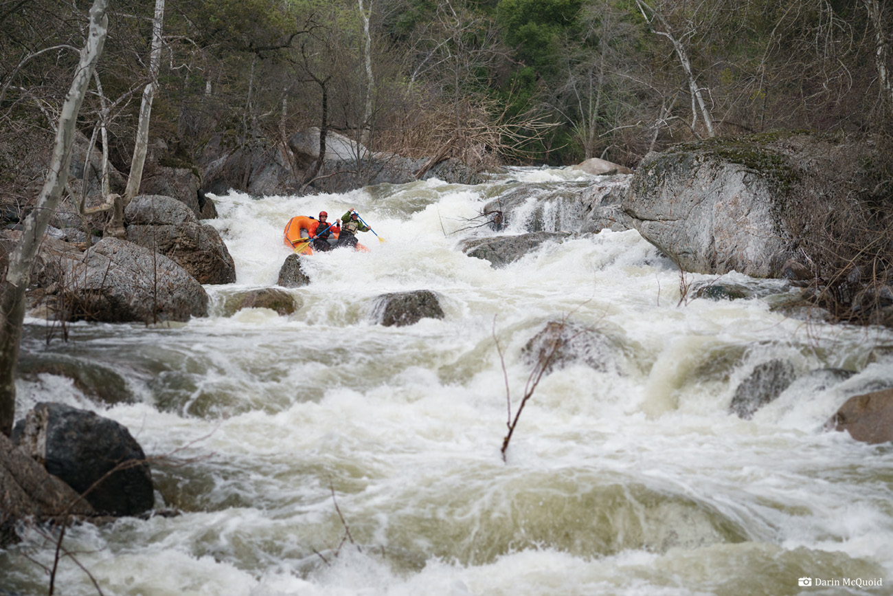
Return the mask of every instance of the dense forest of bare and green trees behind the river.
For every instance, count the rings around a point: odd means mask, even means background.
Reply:
[[[79,116],[87,137],[104,124],[125,173],[154,9],[110,5]],[[49,144],[87,10],[0,0],[7,198],[25,198],[23,162]],[[477,166],[635,166],[691,139],[809,129],[884,144],[893,130],[880,0],[167,0],[163,41],[150,140],[192,164],[284,142],[323,113],[376,151]]]

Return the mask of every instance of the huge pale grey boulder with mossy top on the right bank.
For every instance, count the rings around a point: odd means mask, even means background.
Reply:
[[[780,277],[810,212],[858,185],[864,151],[793,133],[679,145],[646,155],[622,206],[685,271]]]

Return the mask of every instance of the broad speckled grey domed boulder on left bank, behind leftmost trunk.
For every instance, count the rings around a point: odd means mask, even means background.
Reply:
[[[65,265],[71,320],[154,323],[207,315],[208,295],[192,275],[132,242],[103,239]]]

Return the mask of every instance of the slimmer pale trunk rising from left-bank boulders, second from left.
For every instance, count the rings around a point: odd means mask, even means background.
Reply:
[[[137,140],[133,147],[133,160],[130,162],[130,175],[122,200],[115,201],[111,230],[113,235],[122,237],[124,232],[124,206],[139,193],[143,181],[143,166],[146,164],[146,151],[149,145],[149,121],[152,116],[152,100],[158,84],[158,70],[162,61],[162,25],[164,22],[164,0],[155,0],[155,16],[152,20],[152,49],[149,52],[149,83],[143,89],[143,101],[139,105]]]

